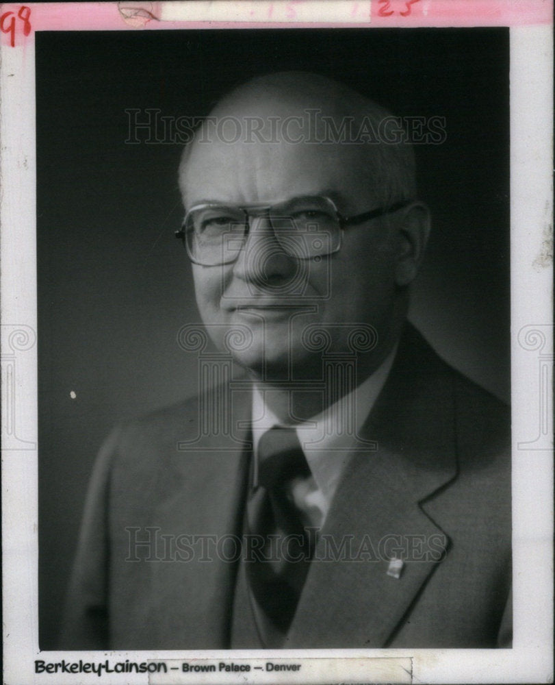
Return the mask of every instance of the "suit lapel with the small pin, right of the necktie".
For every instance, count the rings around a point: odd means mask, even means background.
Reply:
[[[425,500],[456,477],[452,380],[407,337],[361,436],[378,449],[348,466],[285,647],[386,646],[446,553]],[[399,578],[387,574],[391,558],[404,562]]]

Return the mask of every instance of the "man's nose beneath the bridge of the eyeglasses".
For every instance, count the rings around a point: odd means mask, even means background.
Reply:
[[[253,216],[249,221],[234,275],[259,286],[283,286],[296,275],[296,260],[281,247],[268,216]]]

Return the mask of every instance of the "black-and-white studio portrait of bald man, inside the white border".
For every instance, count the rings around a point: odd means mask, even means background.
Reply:
[[[511,646],[508,29],[36,38],[40,646]]]

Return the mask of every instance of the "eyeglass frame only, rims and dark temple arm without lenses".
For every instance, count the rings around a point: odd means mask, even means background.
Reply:
[[[337,207],[335,206],[335,202],[330,197],[326,197],[326,195],[318,195],[316,197],[318,197],[319,199],[326,200],[328,203],[331,204],[331,206],[333,207],[333,210],[335,211],[337,224],[339,225],[339,229],[341,231],[344,231],[346,228],[349,228],[351,226],[355,226],[355,225],[359,225],[361,223],[364,223],[365,221],[370,221],[371,219],[377,219],[378,216],[385,216],[386,214],[392,214],[393,212],[397,212],[400,209],[408,207],[411,203],[414,202],[414,200],[400,200],[398,202],[393,203],[389,207],[378,207],[377,209],[369,210],[367,212],[362,212],[361,214],[354,214],[354,216],[343,216],[342,214],[339,213],[339,210],[337,210]],[[233,207],[233,209],[241,210],[242,212],[244,212],[245,230],[244,230],[244,234],[242,236],[243,240],[247,238],[248,232],[250,230],[249,219],[252,216],[260,216],[266,212],[266,213],[268,213],[268,216],[270,217],[270,220],[271,220],[270,210],[272,209],[272,207],[275,207],[276,204],[279,205],[281,203],[279,203],[279,202],[278,203],[272,203],[270,205],[268,205],[268,204],[261,204],[261,205],[259,205],[259,204],[247,204],[247,205],[242,205],[242,206],[229,205],[230,208]],[[187,250],[187,256],[193,264],[198,264],[198,266],[224,266],[224,264],[233,264],[239,258],[239,252],[237,252],[237,256],[235,256],[233,259],[226,260],[224,262],[218,262],[218,264],[203,264],[203,262],[198,262],[198,260],[196,260],[192,256],[191,251],[189,249],[189,245],[187,242],[187,232],[185,231],[185,225],[187,223],[187,220],[188,220],[191,212],[193,212],[194,210],[204,208],[204,207],[220,207],[220,206],[226,207],[227,205],[222,205],[219,202],[218,203],[206,202],[206,203],[201,203],[201,204],[192,206],[192,208],[190,208],[190,210],[188,210],[188,212],[185,213],[185,219],[183,219],[183,223],[181,223],[181,229],[175,231],[175,237],[179,238],[179,240],[183,241],[183,245],[185,246],[185,249]],[[257,210],[257,214],[254,214],[254,215],[251,214],[250,212],[252,212],[253,210]],[[342,242],[341,241],[341,234],[339,234],[339,245],[337,245],[337,248],[331,252],[326,252],[323,255],[318,255],[318,257],[328,257],[330,255],[336,254],[341,249],[341,242]],[[316,257],[316,255],[315,256],[309,256],[309,257],[296,257],[294,255],[288,255],[288,256],[291,256],[292,258],[297,259],[297,260],[309,260],[309,259],[314,259]]]

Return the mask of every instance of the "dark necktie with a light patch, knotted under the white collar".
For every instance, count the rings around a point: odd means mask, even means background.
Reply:
[[[276,630],[285,636],[309,569],[313,540],[287,492],[309,465],[293,428],[274,426],[258,445],[258,487],[247,506],[250,590]],[[270,646],[270,645],[268,645]]]

